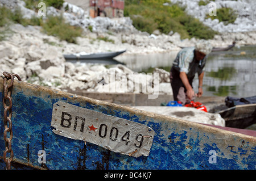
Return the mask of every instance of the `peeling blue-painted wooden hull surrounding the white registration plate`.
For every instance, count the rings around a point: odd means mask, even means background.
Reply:
[[[256,138],[252,136],[26,82],[14,81],[12,98],[12,148],[15,162],[24,165],[44,169],[255,169]],[[130,157],[53,133],[52,108],[59,101],[152,128],[155,135],[149,155]],[[2,105],[0,110],[3,118]],[[5,150],[4,141],[0,141],[0,150]],[[46,163],[38,162],[40,150],[46,153]]]

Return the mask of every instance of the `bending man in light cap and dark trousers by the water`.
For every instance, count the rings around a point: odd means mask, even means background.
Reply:
[[[203,95],[204,66],[207,55],[212,51],[212,45],[206,40],[200,40],[195,47],[183,48],[177,54],[170,72],[171,87],[174,100],[183,105],[190,103],[195,96]],[[192,82],[195,74],[199,77],[198,92],[195,94]]]

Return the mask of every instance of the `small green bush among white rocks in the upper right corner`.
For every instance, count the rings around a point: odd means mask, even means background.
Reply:
[[[234,23],[237,19],[237,14],[233,9],[222,7],[217,9],[217,16],[206,15],[206,18],[218,19],[220,22],[223,22],[225,25],[229,23]]]

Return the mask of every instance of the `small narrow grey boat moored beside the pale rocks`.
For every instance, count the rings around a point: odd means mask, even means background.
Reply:
[[[100,59],[111,59],[119,54],[126,52],[126,50],[121,50],[118,52],[99,52],[99,53],[73,53],[73,54],[64,54],[65,60],[100,60]]]

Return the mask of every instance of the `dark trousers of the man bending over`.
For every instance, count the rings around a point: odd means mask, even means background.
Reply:
[[[190,103],[191,100],[188,99],[187,89],[185,89],[185,86],[183,85],[183,82],[180,79],[180,73],[174,68],[172,68],[170,71],[170,81],[171,81],[172,92],[174,94],[174,100],[180,101],[183,105]],[[192,81],[193,79],[189,80],[189,84],[191,86],[192,86]],[[192,98],[192,100],[194,100],[194,98]]]

